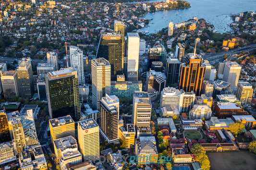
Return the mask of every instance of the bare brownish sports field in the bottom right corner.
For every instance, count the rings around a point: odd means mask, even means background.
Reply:
[[[249,151],[207,152],[210,170],[256,170],[256,155]]]

